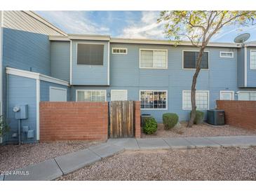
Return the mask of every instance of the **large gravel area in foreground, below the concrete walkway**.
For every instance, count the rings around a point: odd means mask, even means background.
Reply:
[[[256,148],[126,151],[58,180],[256,180]]]

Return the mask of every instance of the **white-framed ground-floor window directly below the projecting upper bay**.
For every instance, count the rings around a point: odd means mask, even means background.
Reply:
[[[77,102],[105,102],[106,90],[76,90]]]

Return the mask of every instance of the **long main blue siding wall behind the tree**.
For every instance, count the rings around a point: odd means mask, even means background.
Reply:
[[[182,110],[182,90],[190,90],[193,69],[182,69],[182,50],[196,50],[184,46],[158,46],[112,43],[112,47],[128,48],[127,55],[110,54],[110,86],[74,86],[72,100],[76,100],[77,89],[128,90],[128,100],[140,100],[140,90],[168,90],[168,109],[143,110],[142,114],[152,114],[162,121],[166,112],[175,112],[181,121],[189,119],[189,110]],[[140,69],[140,48],[167,49],[168,69]],[[220,51],[234,51],[234,58],[221,58]],[[237,50],[230,48],[208,48],[209,70],[202,70],[198,76],[197,90],[209,90],[210,109],[215,108],[215,100],[220,98],[220,90],[237,89]],[[110,97],[107,97],[110,100]]]

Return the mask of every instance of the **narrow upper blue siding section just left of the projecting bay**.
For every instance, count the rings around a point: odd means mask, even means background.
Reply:
[[[69,82],[70,43],[68,41],[51,41],[51,75]]]

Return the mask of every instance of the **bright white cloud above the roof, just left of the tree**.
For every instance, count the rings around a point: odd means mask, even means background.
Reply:
[[[142,11],[142,18],[123,28],[119,37],[138,39],[163,39],[163,25],[157,23],[159,11]]]

